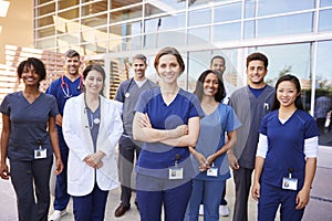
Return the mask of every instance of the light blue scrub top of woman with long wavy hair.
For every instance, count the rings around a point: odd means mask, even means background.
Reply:
[[[234,131],[241,126],[235,110],[231,106],[219,104],[218,107],[209,115],[200,119],[199,137],[195,149],[208,157],[225,145],[225,133]],[[199,171],[199,162],[191,155],[193,167],[197,175],[195,179],[199,180],[226,180],[230,178],[229,164],[227,154],[222,154],[214,161],[214,167],[218,168],[218,176],[207,176],[206,171]]]

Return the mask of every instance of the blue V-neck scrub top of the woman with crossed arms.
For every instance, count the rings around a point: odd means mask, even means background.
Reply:
[[[159,87],[147,90],[142,93],[134,112],[147,113],[155,129],[174,129],[179,125],[187,125],[191,117],[204,116],[197,96],[181,88],[168,106]],[[176,155],[180,156],[177,162],[184,168],[184,178],[193,177],[188,147],[173,147],[162,143],[143,144],[136,172],[168,179],[168,168],[175,165]]]

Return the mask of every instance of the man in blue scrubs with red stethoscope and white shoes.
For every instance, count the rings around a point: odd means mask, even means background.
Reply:
[[[53,81],[46,90],[48,94],[52,94],[58,102],[59,115],[55,117],[56,130],[59,137],[60,152],[63,161],[63,171],[56,176],[55,196],[54,196],[54,212],[50,220],[60,220],[66,213],[66,206],[70,196],[66,192],[66,166],[69,147],[66,146],[62,135],[62,116],[65,102],[81,94],[83,91],[82,76],[80,75],[81,60],[80,54],[75,50],[69,50],[64,53],[64,74]]]

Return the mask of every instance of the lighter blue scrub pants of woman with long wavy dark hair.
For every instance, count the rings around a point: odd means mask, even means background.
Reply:
[[[225,180],[193,180],[193,191],[185,221],[198,221],[199,204],[204,203],[204,220],[219,221],[219,202],[225,189]]]

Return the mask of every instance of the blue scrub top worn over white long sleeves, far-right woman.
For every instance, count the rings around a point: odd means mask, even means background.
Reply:
[[[269,144],[261,182],[281,187],[282,178],[289,177],[289,168],[293,168],[292,178],[299,179],[301,188],[305,171],[304,139],[319,136],[320,131],[314,118],[303,110],[297,109],[284,124],[278,116],[279,109],[266,115],[259,129]]]

